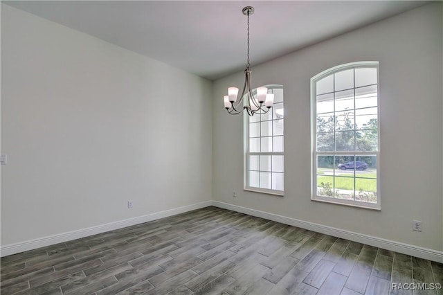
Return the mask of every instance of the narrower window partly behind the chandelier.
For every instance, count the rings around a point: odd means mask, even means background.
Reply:
[[[264,115],[245,114],[245,190],[283,194],[283,88],[266,86],[274,103]],[[253,90],[253,95],[256,91]]]

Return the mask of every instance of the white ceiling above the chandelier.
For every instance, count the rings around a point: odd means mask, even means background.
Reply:
[[[3,1],[215,80],[429,1]]]

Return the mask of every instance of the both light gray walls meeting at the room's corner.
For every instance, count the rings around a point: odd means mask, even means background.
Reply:
[[[212,192],[220,202],[442,251],[442,11],[431,3],[253,66],[254,87],[284,85],[285,195],[276,197],[243,190],[243,118],[222,102],[242,72],[212,85],[1,4],[1,245],[208,201]],[[310,200],[309,79],[360,60],[380,62],[381,211]]]

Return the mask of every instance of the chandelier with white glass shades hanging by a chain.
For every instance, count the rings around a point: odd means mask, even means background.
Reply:
[[[224,107],[231,115],[240,114],[243,110],[246,110],[246,113],[249,116],[253,116],[254,114],[266,114],[272,107],[274,101],[273,93],[268,93],[266,87],[258,87],[257,95],[254,97],[251,91],[251,69],[249,69],[251,66],[251,64],[249,64],[249,16],[253,15],[254,8],[252,6],[246,6],[243,8],[242,12],[248,17],[248,62],[246,63],[246,69],[244,70],[244,86],[242,95],[238,101],[237,94],[239,89],[237,87],[228,88],[228,95],[223,97]],[[245,105],[243,100],[246,100]]]

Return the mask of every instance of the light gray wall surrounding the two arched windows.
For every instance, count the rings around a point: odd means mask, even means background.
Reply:
[[[219,202],[443,250],[442,3],[253,66],[254,87],[284,87],[284,197],[243,190],[243,117],[222,97],[237,73],[214,85],[213,198]],[[309,79],[347,62],[380,62],[381,211],[310,199]],[[233,198],[233,191],[237,197]],[[412,231],[421,220],[423,231]]]

